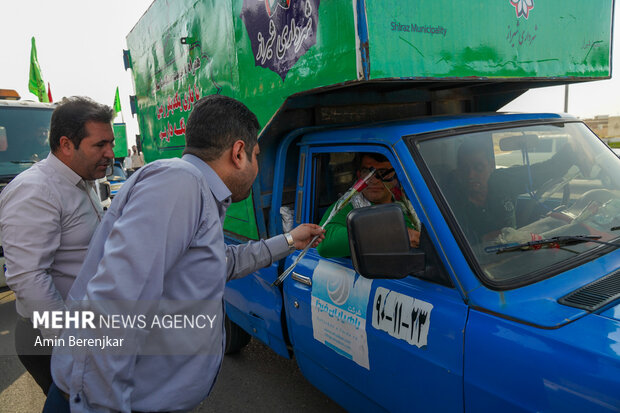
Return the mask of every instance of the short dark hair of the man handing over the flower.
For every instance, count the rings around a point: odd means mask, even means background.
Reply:
[[[224,95],[205,96],[196,102],[187,119],[184,153],[212,161],[240,139],[251,160],[258,129],[256,115],[243,103]]]

